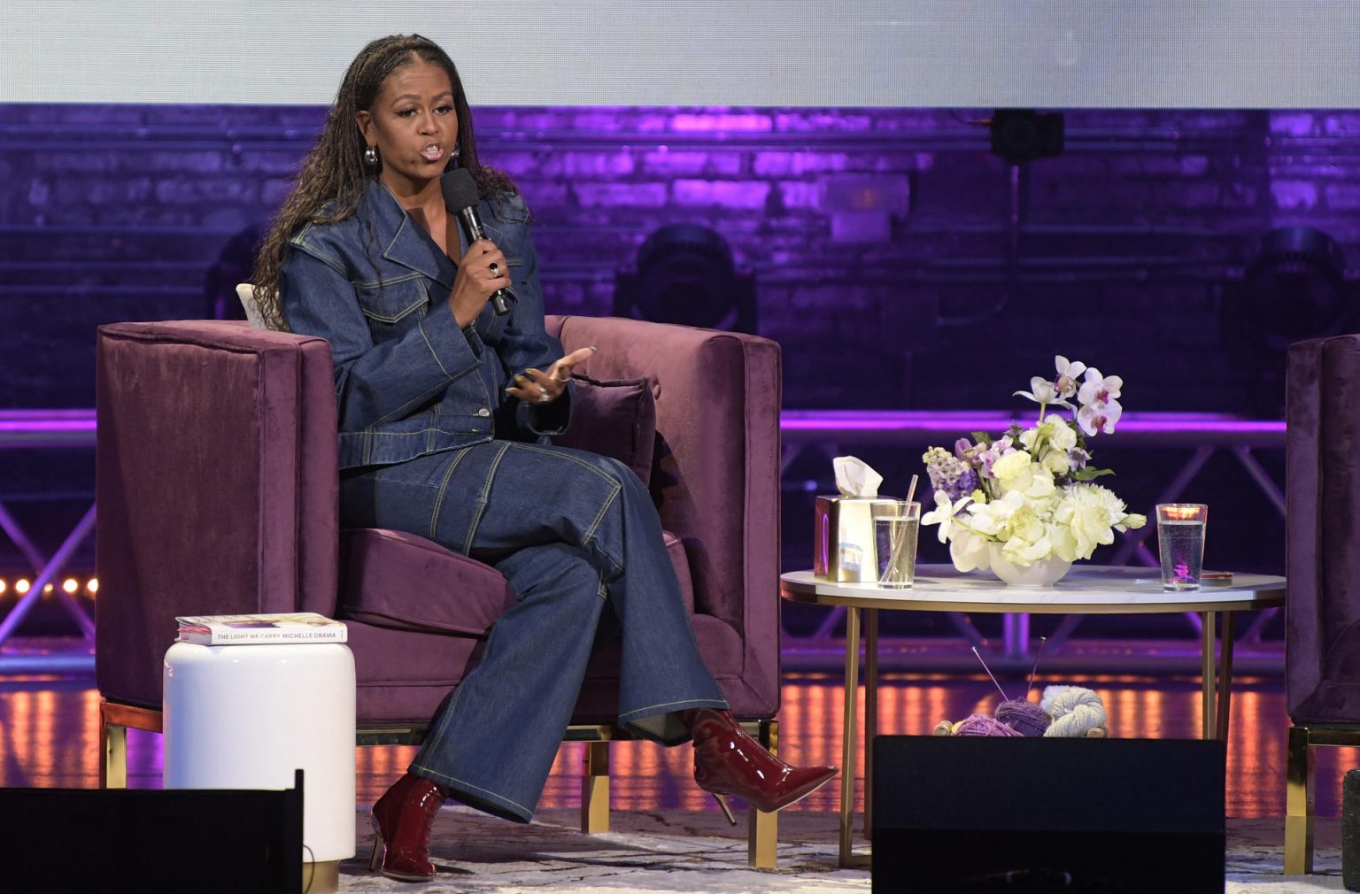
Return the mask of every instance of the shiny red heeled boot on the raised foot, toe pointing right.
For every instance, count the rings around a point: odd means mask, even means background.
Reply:
[[[726,711],[687,713],[694,738],[694,781],[718,800],[733,826],[737,821],[725,795],[771,812],[806,798],[836,774],[834,766],[789,766],[760,747]]]

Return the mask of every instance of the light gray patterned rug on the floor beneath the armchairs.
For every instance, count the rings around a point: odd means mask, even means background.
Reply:
[[[779,818],[779,867],[747,867],[745,818],[736,829],[717,814],[615,812],[612,830],[582,836],[577,812],[543,811],[529,826],[492,819],[461,806],[445,807],[430,852],[439,875],[419,884],[369,872],[373,833],[360,811],[359,856],[341,867],[341,891],[458,891],[476,894],[839,894],[868,891],[866,870],[839,870],[836,817],[786,812]],[[1319,821],[1316,875],[1282,875],[1284,822],[1228,823],[1225,894],[1341,891],[1340,833]],[[1166,891],[1175,891],[1167,879]]]

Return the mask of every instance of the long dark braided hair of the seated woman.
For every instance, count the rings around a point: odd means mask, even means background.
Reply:
[[[288,240],[307,223],[337,223],[354,216],[369,181],[377,178],[382,162],[363,163],[367,143],[355,115],[373,107],[382,82],[392,72],[416,58],[443,68],[453,84],[453,107],[458,115],[458,155],[449,166],[461,164],[477,183],[477,192],[490,197],[514,192],[510,178],[477,160],[477,143],[472,136],[472,113],[462,80],[453,60],[434,41],[419,34],[394,34],[373,41],[350,62],[340,82],[340,92],[326,114],[316,145],[302,160],[302,170],[292,192],[269,224],[269,234],[260,245],[254,262],[254,295],[260,311],[273,329],[287,329],[279,304],[279,274]]]

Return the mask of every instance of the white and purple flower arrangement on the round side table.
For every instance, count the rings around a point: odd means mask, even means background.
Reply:
[[[921,458],[936,503],[921,523],[940,526],[940,542],[948,541],[959,571],[987,569],[993,543],[1005,561],[1025,568],[1050,557],[1091,558],[1096,546],[1114,542],[1114,531],[1148,522],[1092,484],[1114,473],[1089,465],[1087,437],[1114,432],[1123,413],[1118,401],[1123,380],[1062,356],[1054,365],[1051,380],[1035,376],[1028,391],[1016,391],[1039,405],[1032,427],[1013,423],[998,440],[972,432],[971,440],[955,443],[952,455],[932,447]],[[1069,402],[1072,397],[1080,408]],[[1053,406],[1073,417],[1050,413]]]

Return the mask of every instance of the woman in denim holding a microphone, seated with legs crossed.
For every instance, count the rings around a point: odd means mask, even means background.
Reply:
[[[441,177],[476,183],[486,239],[464,245]],[[571,719],[598,625],[622,636],[619,723],[694,742],[695,781],[779,810],[835,768],[793,768],[749,738],[704,668],[647,490],[615,459],[554,447],[571,414],[547,334],[529,212],[477,159],[458,72],[418,35],[350,65],[298,185],[260,249],[275,326],[330,342],[345,527],[430,537],[498,568],[518,596],[424,746],[373,807],[374,865],[434,876],[446,798],[528,822]],[[507,312],[492,295],[509,289]]]

